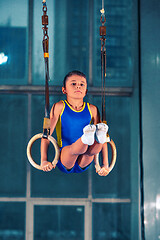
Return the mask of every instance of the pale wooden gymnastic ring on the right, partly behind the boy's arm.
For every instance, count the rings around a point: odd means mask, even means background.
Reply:
[[[115,163],[116,163],[117,150],[116,150],[116,145],[115,145],[115,143],[113,142],[112,139],[108,143],[110,144],[111,149],[112,149],[112,159],[111,159],[111,163],[109,165],[109,172],[111,172],[112,169],[114,168]],[[99,153],[95,155],[94,161],[95,161],[96,172],[98,172],[98,171],[101,170],[101,166],[99,164]]]

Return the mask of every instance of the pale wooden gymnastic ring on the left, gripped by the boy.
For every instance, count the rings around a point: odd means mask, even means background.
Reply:
[[[33,160],[32,158],[32,155],[31,155],[31,150],[32,150],[32,145],[33,143],[39,139],[39,138],[42,138],[43,137],[43,133],[38,133],[36,134],[35,136],[33,136],[28,145],[27,145],[27,157],[28,157],[28,160],[29,162],[31,163],[31,165],[39,170],[42,170],[42,167],[40,165],[38,165],[37,163],[35,163],[35,161]],[[55,157],[52,161],[52,165],[53,167],[55,168],[58,160],[59,160],[59,155],[60,155],[60,150],[59,150],[59,147],[58,147],[58,144],[57,144],[57,141],[52,137],[52,136],[48,136],[48,140],[53,144],[54,148],[55,148]]]

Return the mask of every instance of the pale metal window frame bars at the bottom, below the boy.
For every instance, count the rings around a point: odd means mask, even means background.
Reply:
[[[27,182],[27,186],[30,181]],[[28,191],[27,195],[30,195]],[[34,239],[34,206],[50,205],[50,206],[84,206],[84,236],[85,240],[92,239],[92,204],[93,203],[131,203],[130,199],[106,198],[92,199],[88,198],[18,198],[18,197],[2,197],[0,202],[25,202],[26,203],[26,232],[25,239]]]

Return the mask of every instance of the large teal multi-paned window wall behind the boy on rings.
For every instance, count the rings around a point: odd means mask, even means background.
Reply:
[[[104,3],[106,119],[117,147],[107,177],[99,177],[94,164],[66,175],[57,168],[44,173],[27,161],[28,141],[42,132],[44,118],[42,3],[0,3],[0,215],[7,219],[0,221],[0,239],[138,239],[137,1]],[[77,69],[87,75],[85,101],[101,113],[100,9],[96,0],[47,1],[50,107],[65,98],[63,78]],[[40,140],[32,154],[39,163]],[[50,147],[50,160],[53,155]]]

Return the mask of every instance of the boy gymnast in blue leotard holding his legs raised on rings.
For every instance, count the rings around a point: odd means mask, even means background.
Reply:
[[[58,168],[65,173],[81,173],[88,169],[94,155],[103,152],[103,165],[100,176],[109,173],[106,133],[108,126],[101,123],[98,108],[83,101],[87,93],[87,80],[80,71],[69,72],[63,81],[65,101],[52,106],[50,112],[50,134],[56,128],[60,147]],[[47,160],[49,140],[41,140],[41,167],[51,171],[53,165]]]

